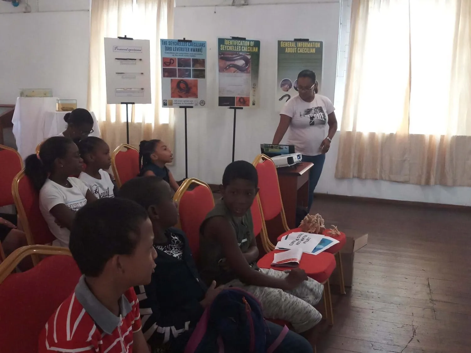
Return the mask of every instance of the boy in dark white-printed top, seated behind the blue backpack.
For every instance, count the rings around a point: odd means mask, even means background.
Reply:
[[[222,287],[209,281],[203,283],[191,254],[184,232],[173,228],[178,221],[178,211],[172,201],[170,185],[157,176],[135,178],[122,185],[118,197],[138,202],[147,210],[154,228],[154,248],[157,267],[149,285],[136,287],[140,299],[143,332],[152,348],[170,348],[170,352],[183,352],[204,308],[211,304]],[[271,345],[282,327],[268,322]],[[312,347],[292,331],[275,350],[275,353],[309,353]]]

